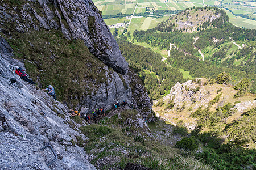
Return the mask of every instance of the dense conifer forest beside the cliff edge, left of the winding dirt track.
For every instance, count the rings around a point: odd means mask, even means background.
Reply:
[[[159,99],[167,94],[176,82],[185,82],[186,79],[183,79],[178,68],[168,67],[161,61],[161,54],[141,45],[131,44],[125,36],[121,36],[117,42],[129,66],[142,78],[151,99]]]

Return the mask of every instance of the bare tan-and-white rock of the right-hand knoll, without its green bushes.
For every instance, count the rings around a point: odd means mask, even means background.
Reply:
[[[255,95],[247,94],[240,98],[234,98],[236,93],[237,90],[234,90],[231,85],[209,84],[209,80],[205,78],[195,81],[189,80],[183,84],[177,82],[171,88],[170,94],[163,97],[162,107],[153,107],[153,109],[158,113],[157,116],[164,118],[164,120],[170,121],[174,125],[181,122],[189,130],[193,130],[197,120],[192,118],[191,114],[197,109],[207,108],[214,101],[209,109],[214,112],[218,107],[230,103],[232,105],[230,112],[233,113],[223,119],[226,124],[229,124],[240,118],[242,113],[256,107]],[[155,104],[157,102],[155,101]],[[170,102],[173,103],[173,107],[168,105]]]

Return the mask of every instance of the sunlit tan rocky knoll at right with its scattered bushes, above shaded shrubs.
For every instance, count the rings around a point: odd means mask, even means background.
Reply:
[[[205,131],[217,128],[218,125],[218,130],[221,130],[225,127],[223,125],[240,120],[244,112],[256,107],[255,95],[247,93],[235,98],[237,92],[230,85],[213,83],[210,79],[193,79],[183,84],[175,84],[170,94],[155,101],[154,111],[175,125],[182,121],[188,130],[195,129],[197,123],[203,125]],[[209,117],[207,122],[200,122],[201,114],[199,116],[198,113],[205,108],[208,109],[209,116],[215,116],[214,121]],[[221,112],[222,116],[218,117],[216,111]],[[251,119],[253,120],[254,118]]]

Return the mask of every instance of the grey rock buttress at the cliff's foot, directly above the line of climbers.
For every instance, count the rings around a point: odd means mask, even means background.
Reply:
[[[146,88],[133,70],[129,70],[129,74],[121,75],[110,71],[106,66],[104,69],[107,82],[100,84],[98,90],[91,95],[84,96],[78,108],[81,108],[83,113],[91,113],[93,108],[104,106],[105,110],[109,110],[116,101],[122,104],[122,101],[126,100],[143,118],[155,121]]]

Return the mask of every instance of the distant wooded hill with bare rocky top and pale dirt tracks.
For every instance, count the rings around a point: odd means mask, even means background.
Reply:
[[[191,27],[180,27],[182,18],[198,20],[198,11],[201,18],[204,17],[202,12],[212,16],[197,25],[189,22]],[[153,29],[135,31],[133,36],[138,42],[163,50],[174,44],[177,48],[171,48],[166,60],[168,65],[189,71],[193,78],[215,78],[226,71],[236,83],[246,77],[255,80],[255,33],[253,29],[230,24],[223,10],[204,7],[181,11]],[[255,81],[251,92],[256,92]]]

